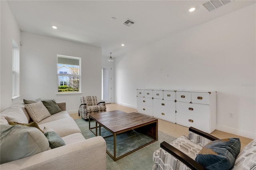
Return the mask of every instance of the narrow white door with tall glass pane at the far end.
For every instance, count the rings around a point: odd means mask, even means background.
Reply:
[[[111,66],[102,65],[101,68],[101,77],[102,77],[102,95],[101,100],[105,103],[111,103]]]

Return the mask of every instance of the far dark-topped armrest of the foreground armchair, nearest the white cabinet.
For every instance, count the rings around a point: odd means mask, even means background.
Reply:
[[[198,130],[197,128],[190,127],[188,129],[188,139],[196,144],[199,144],[200,146],[205,146],[209,142],[212,142],[213,140],[218,140],[219,138],[216,138],[215,136]]]

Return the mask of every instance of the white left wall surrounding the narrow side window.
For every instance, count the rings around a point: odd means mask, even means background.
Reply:
[[[12,39],[20,46],[20,29],[5,0],[1,9],[1,52],[0,52],[0,111],[10,107],[12,101]],[[19,98],[18,98],[19,99]],[[17,100],[18,100],[17,99]],[[15,102],[15,101],[14,101]]]

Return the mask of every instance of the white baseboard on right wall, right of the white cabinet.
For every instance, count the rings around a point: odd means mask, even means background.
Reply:
[[[230,127],[224,127],[224,126],[221,126],[221,125],[217,125],[216,129],[221,130],[223,132],[228,132],[228,133],[236,134],[236,135],[239,135],[239,136],[243,136],[243,137],[246,137],[246,138],[256,139],[256,134],[251,133],[251,132],[246,132],[246,131],[243,131],[243,130],[238,130],[238,129],[230,128]]]

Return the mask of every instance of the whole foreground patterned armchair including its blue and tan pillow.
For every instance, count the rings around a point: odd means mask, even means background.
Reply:
[[[240,151],[239,138],[218,139],[190,127],[188,137],[162,142],[153,154],[153,170],[252,170],[256,140]]]

